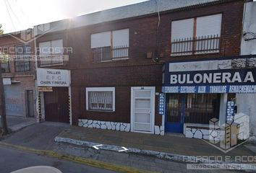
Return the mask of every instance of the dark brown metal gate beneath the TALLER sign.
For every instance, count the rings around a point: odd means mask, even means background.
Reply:
[[[69,123],[69,92],[67,87],[53,87],[44,92],[46,121]]]

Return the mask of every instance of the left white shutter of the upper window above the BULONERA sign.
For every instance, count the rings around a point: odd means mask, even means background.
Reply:
[[[177,39],[193,37],[194,19],[171,22],[171,42]]]

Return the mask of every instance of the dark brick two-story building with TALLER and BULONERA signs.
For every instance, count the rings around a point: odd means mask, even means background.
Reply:
[[[244,1],[161,0],[50,23],[40,57],[72,51],[38,65],[40,118],[208,138],[209,120],[225,123],[226,103],[254,91],[254,72],[239,65],[251,58],[239,56],[243,12]]]

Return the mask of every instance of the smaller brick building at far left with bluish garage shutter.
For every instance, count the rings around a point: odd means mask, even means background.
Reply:
[[[35,61],[32,30],[0,35],[1,72],[7,115],[35,117]]]

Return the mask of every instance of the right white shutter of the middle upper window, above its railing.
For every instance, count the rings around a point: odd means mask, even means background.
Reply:
[[[113,48],[129,47],[129,29],[113,31]]]

